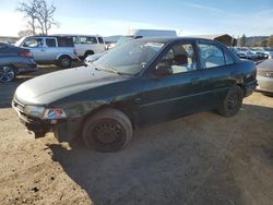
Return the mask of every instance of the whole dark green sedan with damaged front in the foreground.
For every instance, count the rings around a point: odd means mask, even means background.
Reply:
[[[236,114],[257,86],[256,72],[253,62],[217,41],[143,38],[90,67],[23,83],[12,106],[36,137],[49,131],[60,141],[82,135],[87,146],[112,152],[123,148],[139,125],[212,109]]]

